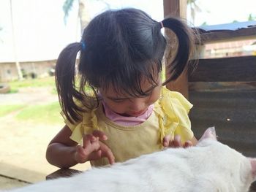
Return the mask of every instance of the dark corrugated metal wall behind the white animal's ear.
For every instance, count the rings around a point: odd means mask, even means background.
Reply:
[[[189,115],[197,139],[215,126],[220,142],[256,158],[256,90],[190,91],[189,101],[194,104]]]

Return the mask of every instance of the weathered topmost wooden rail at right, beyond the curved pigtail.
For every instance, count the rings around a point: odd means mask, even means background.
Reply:
[[[235,31],[214,31],[200,34],[201,44],[228,42],[256,38],[256,27],[241,28]]]

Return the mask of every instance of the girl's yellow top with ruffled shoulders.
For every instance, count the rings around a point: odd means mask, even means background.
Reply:
[[[162,96],[154,103],[151,116],[137,126],[121,126],[108,119],[102,108],[91,112],[83,112],[83,120],[75,124],[65,118],[65,123],[72,131],[70,139],[82,142],[83,134],[90,134],[94,130],[103,131],[108,140],[104,141],[113,152],[116,162],[126,161],[143,154],[162,150],[162,139],[170,134],[181,136],[181,142],[194,137],[188,112],[192,104],[181,93],[162,88]],[[81,144],[82,145],[82,144]],[[108,164],[107,158],[91,161],[92,166]]]

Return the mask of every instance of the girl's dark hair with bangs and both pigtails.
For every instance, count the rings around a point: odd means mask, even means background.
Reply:
[[[177,18],[162,20],[165,28],[176,34],[176,56],[167,70],[170,77],[164,85],[184,71],[194,44],[192,33],[186,24]],[[91,107],[86,93],[89,86],[97,99],[97,88],[113,88],[129,96],[146,96],[140,87],[141,79],[157,85],[156,75],[162,72],[162,58],[167,41],[162,35],[162,24],[139,9],[108,10],[95,17],[84,29],[81,42],[68,45],[61,51],[56,64],[56,87],[61,108],[67,119],[74,123],[80,120],[79,107],[75,100]],[[76,72],[77,55],[78,72]],[[80,83],[76,82],[76,74]]]

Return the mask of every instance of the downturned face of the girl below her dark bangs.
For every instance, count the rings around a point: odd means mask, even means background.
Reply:
[[[141,88],[144,92],[149,93],[145,97],[131,97],[125,94],[116,93],[110,86],[108,90],[99,88],[105,103],[110,107],[113,112],[124,116],[137,117],[142,115],[148,109],[148,106],[154,104],[161,94],[162,81],[161,75],[158,76],[158,85],[151,85],[147,80],[141,82]]]

